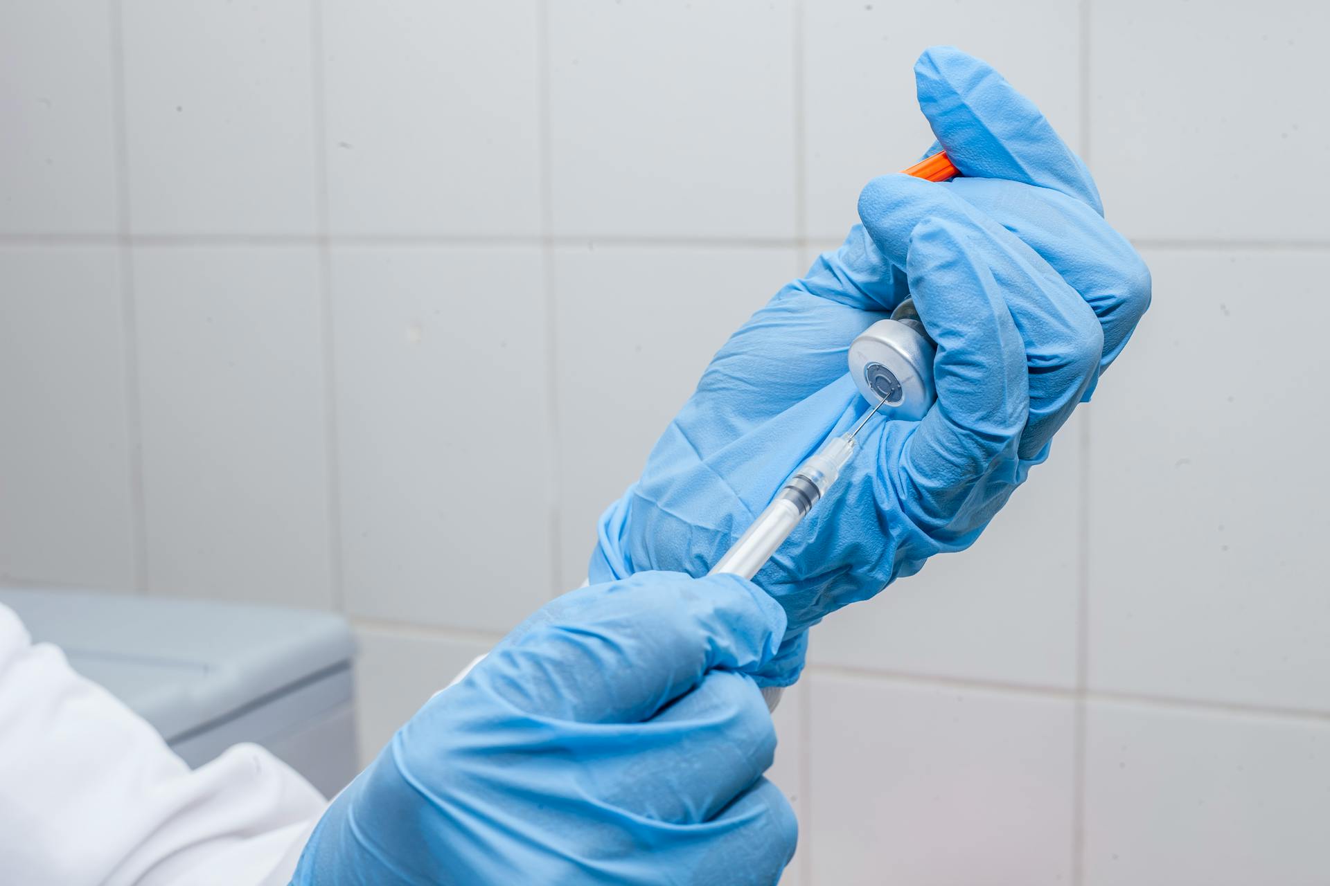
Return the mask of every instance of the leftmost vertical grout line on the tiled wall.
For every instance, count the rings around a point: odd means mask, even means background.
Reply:
[[[129,498],[133,511],[134,591],[148,594],[148,495],[144,486],[144,421],[142,391],[138,376],[138,302],[134,296],[134,255],[132,217],[129,205],[129,125],[125,100],[125,35],[124,4],[112,0],[110,57],[112,57],[112,118],[116,128],[116,236],[120,258],[120,313],[121,335],[125,341],[125,424],[129,436]]]

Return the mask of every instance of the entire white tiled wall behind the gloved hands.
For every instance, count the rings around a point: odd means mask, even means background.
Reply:
[[[1154,307],[968,553],[815,630],[790,883],[1325,883],[1322,4],[5,0],[4,584],[356,626],[368,758],[575,587],[708,357],[1001,69]]]

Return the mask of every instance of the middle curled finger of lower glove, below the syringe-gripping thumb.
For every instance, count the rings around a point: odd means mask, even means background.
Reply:
[[[712,671],[646,723],[613,729],[597,765],[580,776],[588,796],[680,825],[708,821],[753,786],[771,765],[775,728],[753,679]],[[624,732],[628,731],[628,732]]]

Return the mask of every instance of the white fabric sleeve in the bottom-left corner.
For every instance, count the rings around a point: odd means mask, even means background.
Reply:
[[[286,882],[322,796],[257,745],[190,770],[0,606],[0,858],[27,886]]]

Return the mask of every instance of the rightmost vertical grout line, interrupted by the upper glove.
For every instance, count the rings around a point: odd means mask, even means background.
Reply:
[[[1091,155],[1091,4],[1077,4],[1077,46],[1080,49],[1080,147],[1088,166]],[[1076,470],[1079,507],[1076,513],[1076,701],[1072,708],[1072,886],[1085,882],[1085,769],[1088,747],[1087,691],[1089,688],[1089,465],[1092,453],[1093,414],[1081,410],[1079,433],[1080,465]]]

